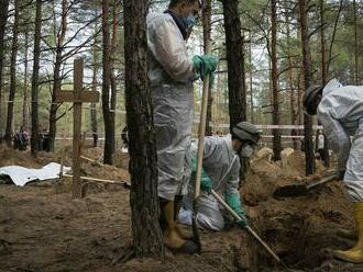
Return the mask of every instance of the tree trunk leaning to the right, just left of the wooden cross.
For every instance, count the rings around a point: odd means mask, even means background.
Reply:
[[[52,104],[50,110],[50,135],[48,135],[47,151],[54,151],[55,136],[57,133],[57,111],[59,104],[55,103],[55,98],[57,92],[61,91],[61,87],[62,87],[61,67],[63,63],[62,60],[63,44],[67,32],[67,13],[68,13],[68,1],[62,0],[62,22],[56,39],[57,45],[56,45],[55,64],[54,64],[54,72],[53,72],[53,90],[52,90]]]

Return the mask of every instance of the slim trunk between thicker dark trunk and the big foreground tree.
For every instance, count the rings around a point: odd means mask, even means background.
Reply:
[[[110,53],[110,84],[111,84],[111,112],[110,112],[110,120],[111,120],[111,128],[112,134],[110,135],[110,141],[112,144],[112,154],[114,152],[116,148],[116,140],[114,140],[114,128],[116,128],[116,103],[117,103],[117,82],[116,82],[116,53],[117,53],[117,36],[118,36],[118,0],[113,0],[113,14],[112,14],[112,38],[111,38],[111,53]]]

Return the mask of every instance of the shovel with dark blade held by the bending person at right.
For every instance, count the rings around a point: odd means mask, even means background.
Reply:
[[[311,189],[315,189],[319,185],[331,182],[338,178],[337,174],[329,175],[323,178],[317,182],[312,182],[310,184],[304,185],[286,185],[282,188],[277,188],[274,192],[274,197],[298,197],[308,194]]]

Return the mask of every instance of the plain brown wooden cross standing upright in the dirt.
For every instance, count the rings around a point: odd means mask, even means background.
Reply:
[[[84,59],[74,61],[74,90],[56,93],[56,103],[73,102],[73,197],[81,197],[80,184],[80,146],[81,146],[81,103],[97,103],[99,93],[84,90]]]

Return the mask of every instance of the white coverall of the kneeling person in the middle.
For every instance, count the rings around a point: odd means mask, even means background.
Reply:
[[[193,143],[188,158],[197,156],[198,144]],[[240,158],[232,148],[231,136],[209,136],[205,138],[205,152],[202,161],[204,170],[212,181],[212,189],[222,197],[227,193],[240,197]],[[190,179],[190,177],[189,177]],[[222,230],[224,228],[224,216],[227,212],[217,200],[205,192],[198,200],[197,225],[202,229]],[[188,184],[188,195],[184,197],[183,208],[179,213],[179,222],[191,225],[191,211],[194,197],[194,182]]]

